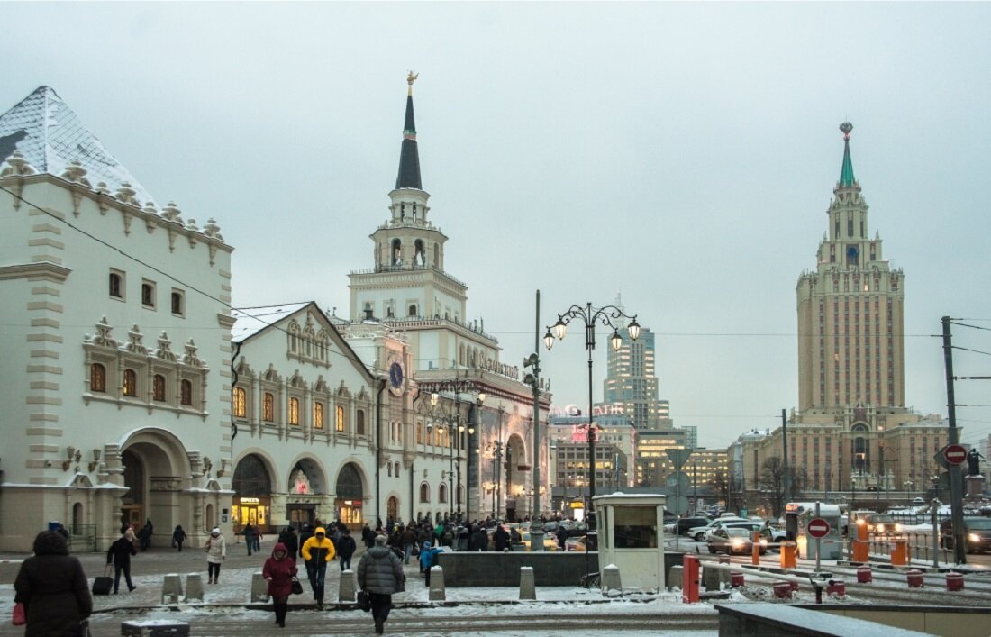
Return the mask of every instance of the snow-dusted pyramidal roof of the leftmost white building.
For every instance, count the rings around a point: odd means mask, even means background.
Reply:
[[[111,192],[126,183],[142,204],[155,201],[50,86],[39,86],[0,115],[0,163],[15,151],[38,172],[60,177],[72,161],[78,161],[91,183],[103,182]]]

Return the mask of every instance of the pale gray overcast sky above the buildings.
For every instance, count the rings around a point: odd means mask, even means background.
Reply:
[[[0,110],[58,91],[158,199],[217,219],[241,306],[348,306],[399,158],[408,69],[423,187],[502,361],[573,303],[658,333],[677,425],[724,446],[798,400],[795,285],[849,120],[906,275],[906,394],[945,414],[939,317],[991,328],[991,4],[4,3]],[[573,326],[574,327],[574,326]],[[587,401],[580,331],[541,351]],[[595,353],[602,393],[606,333]],[[991,352],[991,332],[955,344]],[[958,375],[991,356],[957,353]],[[957,402],[991,404],[991,381]],[[991,409],[959,408],[964,442]]]

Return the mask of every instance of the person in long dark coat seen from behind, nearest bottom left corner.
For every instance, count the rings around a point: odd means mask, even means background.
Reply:
[[[76,637],[93,612],[89,583],[79,561],[68,554],[65,538],[43,531],[35,555],[24,561],[14,582],[15,601],[28,616],[25,637]]]

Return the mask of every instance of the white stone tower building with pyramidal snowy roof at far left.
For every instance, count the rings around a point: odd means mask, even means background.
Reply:
[[[47,86],[0,115],[0,550],[122,515],[196,542],[229,508],[230,255],[153,198]],[[226,528],[226,527],[225,527]]]

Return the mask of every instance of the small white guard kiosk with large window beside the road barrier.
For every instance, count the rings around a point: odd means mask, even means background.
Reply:
[[[660,494],[615,492],[594,498],[599,564],[615,565],[623,589],[664,590],[664,502]]]

